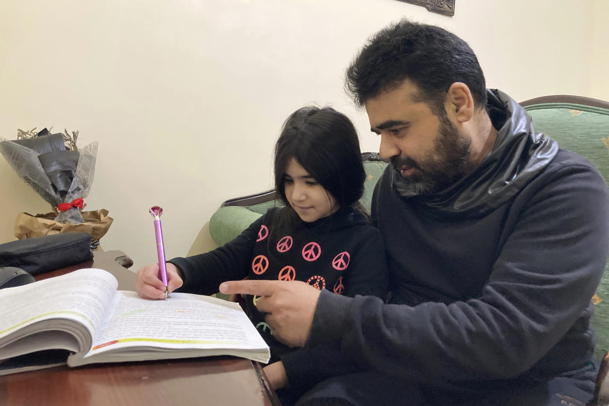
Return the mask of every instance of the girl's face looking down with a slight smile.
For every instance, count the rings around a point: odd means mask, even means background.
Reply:
[[[333,195],[317,183],[295,158],[290,158],[287,163],[283,184],[288,203],[303,222],[312,223],[339,209]]]

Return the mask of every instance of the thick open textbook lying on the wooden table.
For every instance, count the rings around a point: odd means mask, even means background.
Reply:
[[[0,290],[0,375],[67,363],[235,355],[269,362],[241,307],[209,296],[142,299],[113,275],[82,269]]]

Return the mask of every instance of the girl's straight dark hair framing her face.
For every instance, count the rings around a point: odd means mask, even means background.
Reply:
[[[345,114],[330,107],[303,107],[284,122],[275,144],[275,190],[284,210],[276,211],[278,232],[292,229],[300,220],[286,198],[284,174],[295,158],[341,208],[351,206],[365,214],[359,203],[365,172],[357,131]],[[280,231],[281,230],[281,231]]]

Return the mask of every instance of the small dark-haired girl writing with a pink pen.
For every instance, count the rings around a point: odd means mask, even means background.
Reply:
[[[168,261],[168,289],[211,295],[222,282],[248,277],[384,298],[384,244],[358,201],[364,180],[359,140],[347,116],[327,107],[300,108],[284,123],[275,146],[275,187],[284,207],[270,209],[216,250]],[[158,264],[141,268],[136,285],[143,298],[164,298]],[[245,311],[271,349],[264,369],[273,388],[290,387],[278,391],[283,402],[356,368],[338,349],[293,349],[277,341],[256,299],[245,296]]]

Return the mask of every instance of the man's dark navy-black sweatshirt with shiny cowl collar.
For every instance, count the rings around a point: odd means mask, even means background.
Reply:
[[[392,166],[376,185],[393,304],[322,292],[308,345],[453,393],[590,368],[607,186],[585,158],[535,134],[507,95],[489,101],[495,147],[451,190],[404,197]]]

